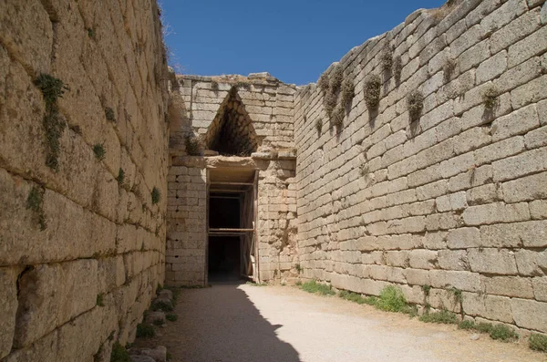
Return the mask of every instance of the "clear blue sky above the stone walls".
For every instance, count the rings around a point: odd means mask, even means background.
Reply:
[[[315,82],[366,39],[443,0],[162,0],[170,64],[184,74],[267,71],[285,83]]]

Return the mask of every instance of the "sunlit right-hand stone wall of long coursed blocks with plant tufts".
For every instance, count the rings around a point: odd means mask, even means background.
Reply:
[[[452,2],[355,47],[339,63],[356,96],[337,129],[324,91],[299,88],[305,278],[366,295],[397,284],[411,303],[547,332],[543,3]],[[373,74],[381,98],[367,109]]]

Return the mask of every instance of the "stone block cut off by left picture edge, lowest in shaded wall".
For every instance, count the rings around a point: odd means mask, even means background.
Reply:
[[[0,358],[9,354],[15,333],[15,314],[17,312],[17,270],[0,268],[0,309],[4,311],[0,319]]]

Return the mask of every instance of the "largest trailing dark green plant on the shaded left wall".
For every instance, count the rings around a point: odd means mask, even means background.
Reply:
[[[59,115],[57,100],[63,97],[68,88],[62,80],[44,73],[36,78],[35,85],[42,91],[44,103],[46,104],[46,114],[42,122],[46,130],[46,144],[48,147],[46,165],[52,170],[58,171],[59,140],[67,124]]]

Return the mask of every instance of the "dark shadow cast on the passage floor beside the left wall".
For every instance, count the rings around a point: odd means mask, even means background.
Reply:
[[[257,286],[257,288],[260,286]],[[178,299],[176,322],[159,328],[138,346],[167,347],[171,361],[300,361],[293,346],[280,340],[237,284],[184,289]]]

